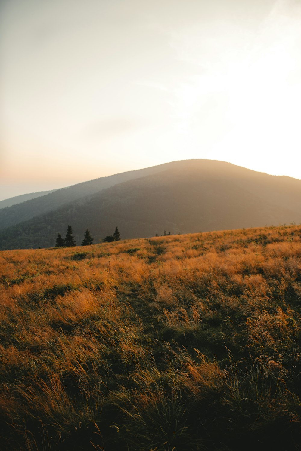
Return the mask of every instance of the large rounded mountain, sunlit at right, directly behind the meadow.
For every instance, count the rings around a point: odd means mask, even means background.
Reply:
[[[116,184],[0,232],[0,249],[50,247],[71,224],[81,244],[118,226],[121,238],[301,222],[301,181],[222,161],[190,160]]]

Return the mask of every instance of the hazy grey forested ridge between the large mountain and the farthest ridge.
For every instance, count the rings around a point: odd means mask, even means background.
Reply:
[[[167,163],[170,164],[170,163]],[[143,177],[164,170],[165,164],[153,166],[151,168],[122,172],[121,174],[100,177],[88,182],[78,183],[67,188],[57,189],[39,198],[27,200],[26,202],[12,205],[0,210],[0,229],[14,226],[22,221],[27,221],[34,216],[56,210],[65,203],[75,201],[85,196],[97,193],[102,189],[109,188],[126,180]]]

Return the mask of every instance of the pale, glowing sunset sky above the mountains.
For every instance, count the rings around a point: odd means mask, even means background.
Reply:
[[[208,158],[301,179],[300,0],[0,0],[0,200]]]

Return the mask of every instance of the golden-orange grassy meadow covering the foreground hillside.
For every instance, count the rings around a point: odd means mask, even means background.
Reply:
[[[2,450],[298,450],[301,226],[0,253]]]

